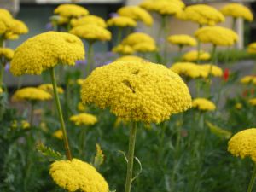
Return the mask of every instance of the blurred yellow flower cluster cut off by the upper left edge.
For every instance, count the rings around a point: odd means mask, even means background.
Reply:
[[[0,35],[4,39],[17,39],[19,35],[26,34],[28,28],[21,20],[15,20],[9,11],[0,9]]]

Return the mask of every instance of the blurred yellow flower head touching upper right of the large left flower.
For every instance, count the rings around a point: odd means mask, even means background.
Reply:
[[[111,32],[94,24],[75,26],[70,33],[90,41],[109,41],[111,39]]]

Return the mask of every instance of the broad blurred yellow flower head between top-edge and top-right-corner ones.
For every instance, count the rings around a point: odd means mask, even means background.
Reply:
[[[201,26],[215,26],[224,21],[224,15],[217,9],[206,4],[188,6],[183,12],[184,20],[191,20]]]

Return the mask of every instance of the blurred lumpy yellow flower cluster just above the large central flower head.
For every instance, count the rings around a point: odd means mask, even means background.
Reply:
[[[114,52],[131,55],[134,52],[153,52],[156,50],[154,38],[143,32],[133,32],[121,44],[113,48]]]

